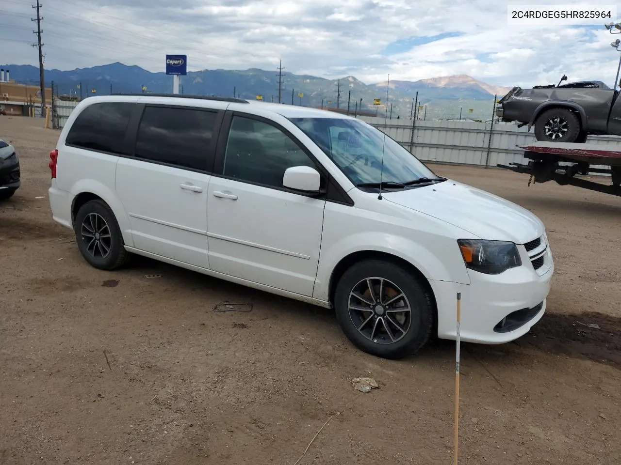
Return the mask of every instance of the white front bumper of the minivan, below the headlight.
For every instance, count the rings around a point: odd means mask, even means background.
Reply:
[[[528,260],[525,250],[522,254],[526,260],[522,259],[521,267],[500,275],[469,270],[469,285],[430,280],[438,308],[438,337],[456,339],[458,292],[461,292],[460,339],[464,342],[502,344],[527,334],[546,311],[554,262],[547,248],[545,255],[535,254],[539,258],[533,262]],[[540,268],[535,270],[535,266]]]

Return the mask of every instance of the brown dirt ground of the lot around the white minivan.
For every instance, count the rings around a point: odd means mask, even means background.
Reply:
[[[454,342],[381,360],[325,309],[148,259],[89,267],[52,220],[42,126],[0,117],[23,183],[0,203],[0,464],[293,465],[327,420],[300,465],[453,463]],[[463,345],[460,463],[621,463],[621,199],[432,167],[540,216],[556,262],[530,334]]]

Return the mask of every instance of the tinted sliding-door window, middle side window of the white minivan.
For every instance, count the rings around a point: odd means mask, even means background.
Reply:
[[[135,156],[208,170],[217,112],[192,108],[147,107],[140,120]]]

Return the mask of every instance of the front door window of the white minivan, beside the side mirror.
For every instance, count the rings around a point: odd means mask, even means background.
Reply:
[[[250,118],[233,117],[224,158],[224,175],[283,187],[284,171],[292,166],[315,167],[283,131]]]

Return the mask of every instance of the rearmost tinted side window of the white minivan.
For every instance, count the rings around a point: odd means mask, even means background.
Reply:
[[[135,104],[93,104],[79,113],[65,143],[85,149],[125,154],[125,129]]]

